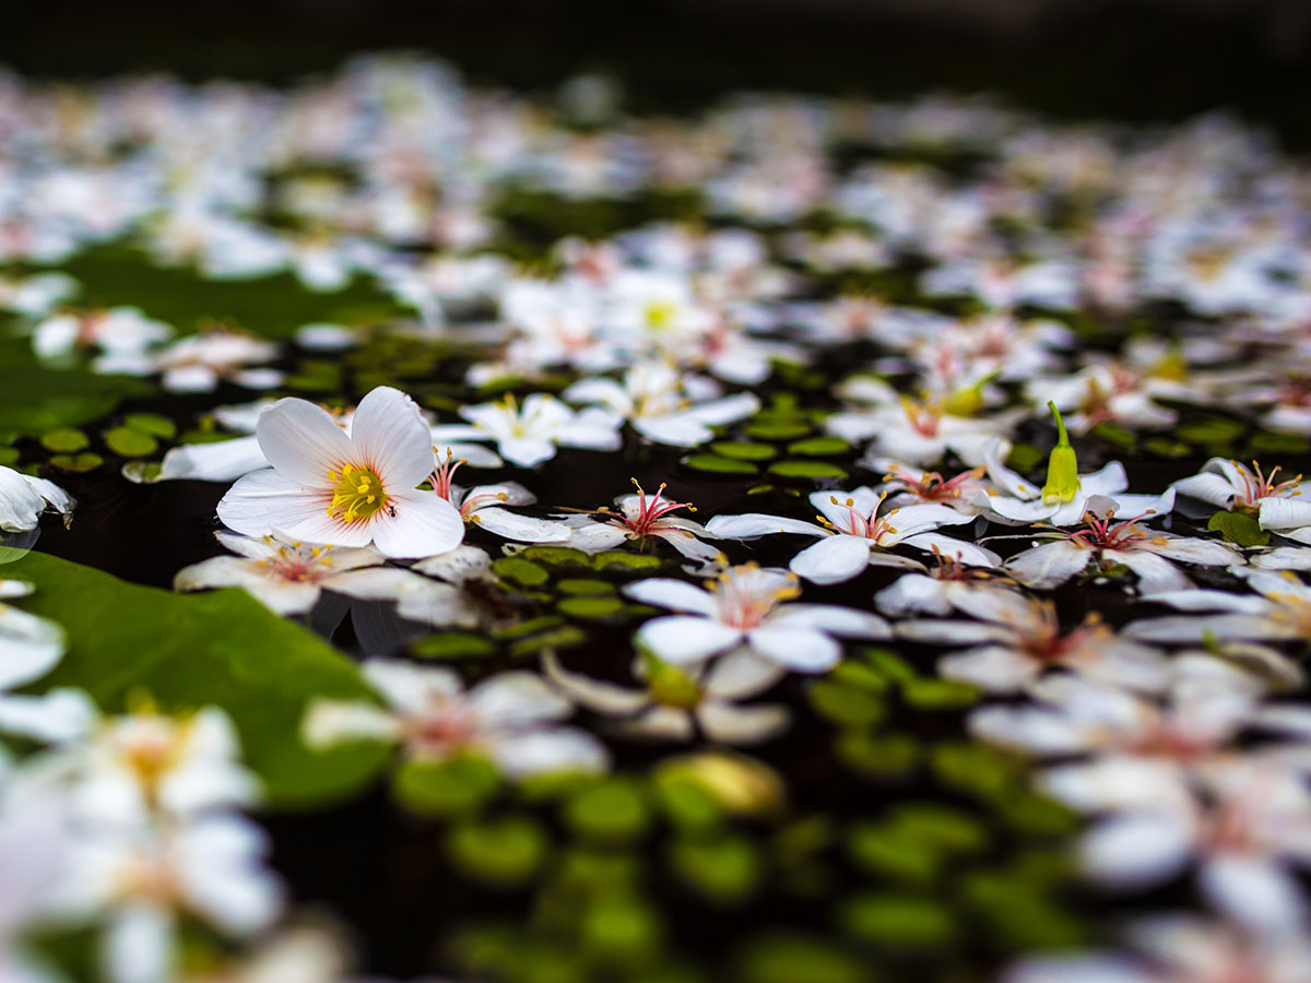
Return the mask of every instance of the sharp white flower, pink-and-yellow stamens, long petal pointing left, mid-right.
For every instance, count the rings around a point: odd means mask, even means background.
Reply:
[[[878,515],[884,495],[871,488],[855,492],[812,492],[810,503],[819,510],[819,522],[789,519],[781,515],[747,512],[716,515],[707,531],[720,539],[755,539],[776,532],[818,536],[788,568],[814,583],[842,583],[859,577],[867,566],[922,569],[906,557],[886,549],[905,544],[926,553],[939,552],[975,566],[995,566],[1000,560],[973,543],[954,540],[933,532],[941,526],[960,526],[971,520],[943,505],[911,505]]]

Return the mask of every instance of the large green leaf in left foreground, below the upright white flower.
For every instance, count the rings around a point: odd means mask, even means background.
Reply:
[[[34,583],[22,607],[68,633],[68,653],[41,688],[80,687],[109,712],[132,691],[168,710],[222,706],[274,806],[345,796],[389,756],[370,744],[305,750],[298,730],[309,699],[370,699],[368,689],[350,659],[243,591],[170,594],[43,553],[5,566],[5,577]]]

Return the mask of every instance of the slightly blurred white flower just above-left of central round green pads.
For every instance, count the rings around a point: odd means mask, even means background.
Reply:
[[[570,402],[598,404],[629,421],[658,444],[696,447],[714,436],[712,426],[733,423],[760,409],[755,393],[718,396],[705,379],[683,377],[663,362],[642,362],[624,372],[621,383],[595,377],[574,383],[564,392]]]

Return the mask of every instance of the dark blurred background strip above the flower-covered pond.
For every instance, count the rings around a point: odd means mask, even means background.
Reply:
[[[1218,106],[1311,148],[1308,0],[52,0],[7,12],[0,62],[35,76],[170,69],[290,80],[408,48],[480,81],[603,69],[635,109],[730,88],[988,90],[1063,117]]]

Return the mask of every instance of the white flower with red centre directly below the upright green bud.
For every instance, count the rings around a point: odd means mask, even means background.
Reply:
[[[1218,540],[1148,530],[1139,524],[1143,516],[1112,522],[1118,511],[1113,499],[1093,497],[1087,505],[1084,528],[1038,533],[1057,541],[1017,553],[1006,561],[1006,571],[1028,587],[1051,590],[1092,562],[1103,568],[1122,564],[1138,578],[1138,592],[1151,595],[1193,586],[1175,564],[1231,566],[1243,562],[1243,554],[1232,547]],[[1097,518],[1095,510],[1099,509],[1104,518]]]

